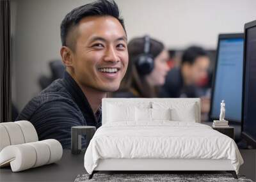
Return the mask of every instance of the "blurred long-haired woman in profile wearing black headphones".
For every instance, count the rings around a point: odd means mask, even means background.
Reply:
[[[168,68],[168,52],[163,43],[144,36],[128,43],[129,64],[120,88],[113,97],[157,97],[157,87],[163,86]]]

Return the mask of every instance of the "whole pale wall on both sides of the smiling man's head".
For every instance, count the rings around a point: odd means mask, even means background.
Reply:
[[[60,23],[76,6],[91,1],[12,0],[15,22],[13,98],[21,110],[40,91],[38,78],[49,75],[50,59],[60,59]],[[256,19],[254,0],[116,0],[129,39],[150,34],[167,47],[184,49],[191,43],[216,47],[218,33],[241,32]],[[12,15],[13,13],[12,7]]]

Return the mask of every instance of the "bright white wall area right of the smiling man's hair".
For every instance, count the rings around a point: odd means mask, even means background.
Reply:
[[[177,49],[191,43],[214,49],[219,33],[242,32],[245,22],[256,19],[255,0],[117,2],[130,38],[148,33]]]

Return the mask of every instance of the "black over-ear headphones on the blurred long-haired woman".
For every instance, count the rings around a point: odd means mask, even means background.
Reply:
[[[146,35],[144,39],[144,52],[135,59],[135,65],[140,75],[147,75],[154,69],[154,58],[149,53],[150,37]]]

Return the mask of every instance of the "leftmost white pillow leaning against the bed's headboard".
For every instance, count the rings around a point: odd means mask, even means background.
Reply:
[[[107,107],[107,122],[135,121],[135,107],[113,104],[108,104]]]

